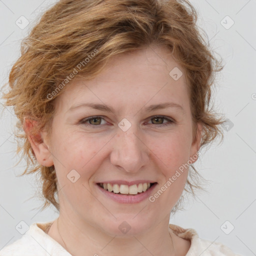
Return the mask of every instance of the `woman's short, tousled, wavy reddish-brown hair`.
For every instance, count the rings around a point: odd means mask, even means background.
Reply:
[[[38,120],[37,128],[47,127],[50,132],[54,99],[74,70],[77,77],[90,79],[112,56],[151,44],[167,47],[184,69],[193,123],[202,124],[200,146],[223,136],[222,120],[210,107],[214,74],[222,66],[199,32],[196,19],[187,0],[59,0],[41,16],[22,40],[21,56],[11,68],[3,98],[19,119],[17,151],[22,151],[21,158],[27,162],[21,175],[40,173],[43,208],[52,203],[59,210],[56,173],[54,166],[36,161],[22,124],[25,117]],[[185,190],[194,194],[199,185],[189,177],[190,171]]]

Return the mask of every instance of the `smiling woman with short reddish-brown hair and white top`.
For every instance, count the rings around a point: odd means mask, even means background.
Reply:
[[[45,207],[0,255],[237,255],[169,225],[199,149],[217,60],[176,0],[60,0],[23,41],[6,105]],[[195,172],[196,173],[196,172]],[[186,187],[185,187],[186,186]]]

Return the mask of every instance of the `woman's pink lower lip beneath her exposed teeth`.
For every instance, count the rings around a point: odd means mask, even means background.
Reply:
[[[97,186],[97,188],[99,188],[99,190],[106,195],[108,198],[119,202],[119,203],[138,203],[141,202],[143,200],[145,200],[146,198],[149,197],[150,193],[152,192],[152,190],[154,189],[154,187],[156,186],[157,183],[154,183],[152,186],[150,186],[149,189],[147,189],[145,192],[142,192],[140,194],[134,194],[134,195],[121,195],[121,194],[116,194],[113,192],[109,192],[108,190],[105,190],[104,188]]]

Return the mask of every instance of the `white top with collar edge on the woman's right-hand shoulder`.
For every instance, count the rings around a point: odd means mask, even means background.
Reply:
[[[192,228],[184,229],[174,224],[169,224],[169,228],[179,237],[190,240],[191,245],[186,256],[241,256],[220,242],[200,238]]]

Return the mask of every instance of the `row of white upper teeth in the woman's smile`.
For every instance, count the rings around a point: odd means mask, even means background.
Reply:
[[[145,192],[149,187],[150,183],[139,183],[131,186],[124,184],[110,184],[110,183],[99,183],[101,187],[109,192],[121,193],[121,194],[137,194],[142,191]]]

